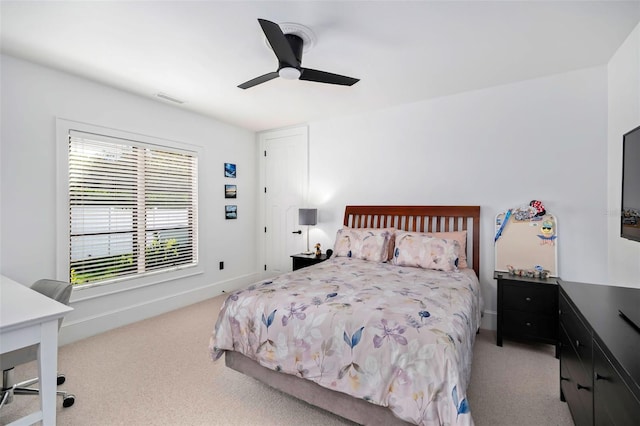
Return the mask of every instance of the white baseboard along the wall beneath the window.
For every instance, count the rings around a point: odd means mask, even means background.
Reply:
[[[248,274],[180,293],[156,297],[144,303],[107,310],[96,315],[76,319],[75,321],[65,320],[59,333],[59,345],[73,343],[105,331],[183,308],[223,293],[234,291],[259,279],[260,275],[258,273]]]

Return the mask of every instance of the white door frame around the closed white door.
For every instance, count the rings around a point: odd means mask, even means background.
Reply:
[[[266,250],[267,250],[267,238],[264,233],[264,227],[266,226],[266,206],[263,188],[266,185],[266,167],[265,167],[265,143],[268,139],[275,139],[288,136],[302,136],[304,138],[304,144],[306,146],[307,158],[305,159],[307,164],[307,176],[303,182],[302,203],[300,207],[307,206],[309,202],[309,126],[299,125],[294,127],[286,127],[282,129],[265,130],[257,134],[258,140],[258,168],[259,168],[259,182],[258,182],[258,264],[257,270],[259,274],[265,278],[269,274],[265,271],[264,265],[266,262]]]

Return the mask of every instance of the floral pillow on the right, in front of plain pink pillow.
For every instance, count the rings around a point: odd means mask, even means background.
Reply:
[[[455,271],[458,269],[460,244],[456,240],[436,238],[417,232],[396,234],[392,263],[423,269]]]

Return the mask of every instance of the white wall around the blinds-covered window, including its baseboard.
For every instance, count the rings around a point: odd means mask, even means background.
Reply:
[[[1,62],[0,270],[18,282],[56,276],[56,117],[202,147],[202,273],[99,298],[74,291],[75,311],[65,320],[63,343],[255,279],[258,179],[253,132],[10,56],[2,56]],[[237,164],[233,182],[223,176],[224,162]],[[224,219],[225,183],[238,185],[233,200],[237,220]],[[225,264],[222,271],[219,261]]]

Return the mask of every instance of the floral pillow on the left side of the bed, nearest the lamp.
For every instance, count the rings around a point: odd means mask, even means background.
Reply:
[[[389,260],[392,228],[342,228],[336,234],[333,256],[386,262]]]

